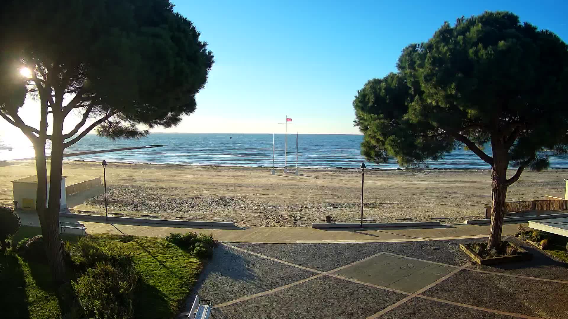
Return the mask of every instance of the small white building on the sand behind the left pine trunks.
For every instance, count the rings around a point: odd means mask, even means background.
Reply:
[[[65,178],[61,177],[61,211],[67,209],[67,196],[65,194]],[[47,198],[49,200],[49,176],[47,177]],[[18,208],[35,210],[37,194],[37,175],[16,179],[12,181],[14,201],[18,202]],[[45,203],[47,205],[47,202]]]

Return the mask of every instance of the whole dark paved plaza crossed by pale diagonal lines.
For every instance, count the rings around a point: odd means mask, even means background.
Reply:
[[[224,242],[195,291],[215,318],[568,318],[568,268],[471,263],[480,239],[345,244]]]

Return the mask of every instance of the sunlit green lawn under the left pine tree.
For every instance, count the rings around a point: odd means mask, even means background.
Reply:
[[[22,226],[14,242],[40,232],[39,227]],[[141,276],[133,300],[137,319],[174,317],[202,268],[198,258],[164,238],[112,234],[94,234],[87,238],[99,246],[118,245],[132,254]],[[76,242],[78,237],[66,235],[62,240]],[[8,312],[6,318],[59,316],[51,275],[44,263],[28,263],[16,254],[0,256],[0,282],[3,286],[0,309]]]

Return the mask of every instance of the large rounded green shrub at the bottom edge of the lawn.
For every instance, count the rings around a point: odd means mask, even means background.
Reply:
[[[133,318],[132,295],[138,276],[134,266],[118,268],[96,262],[77,282],[72,282],[77,299],[87,318]]]

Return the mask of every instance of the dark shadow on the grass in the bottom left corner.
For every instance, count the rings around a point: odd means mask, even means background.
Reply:
[[[2,283],[2,298],[0,310],[5,318],[30,318],[28,297],[26,294],[26,279],[22,265],[15,254],[0,255],[0,282]]]

